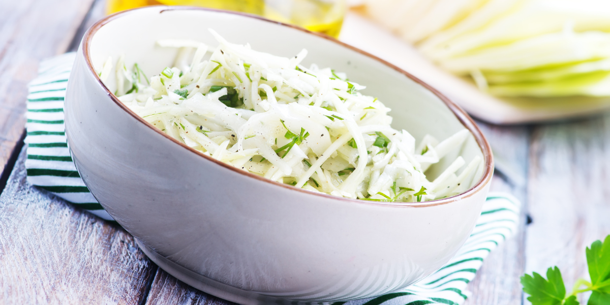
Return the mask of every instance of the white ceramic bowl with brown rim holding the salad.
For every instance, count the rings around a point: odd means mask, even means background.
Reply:
[[[344,71],[392,108],[393,127],[420,140],[472,132],[459,154],[484,165],[467,192],[426,203],[321,195],[237,170],[146,123],[98,79],[108,56],[126,54],[148,75],[171,65],[161,38],[229,41]],[[113,84],[113,79],[108,84]],[[95,24],[77,52],[65,100],[71,153],[91,193],[163,269],[241,304],[345,301],[401,289],[439,269],[465,242],[484,203],[492,154],[453,102],[395,66],[322,35],[254,16],[148,7]],[[430,175],[458,155],[432,168]]]

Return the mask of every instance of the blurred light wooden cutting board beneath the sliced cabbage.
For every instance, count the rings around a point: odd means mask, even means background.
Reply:
[[[610,98],[497,98],[473,82],[441,70],[409,43],[357,12],[346,15],[339,40],[422,79],[473,117],[493,124],[526,124],[584,117],[610,110]]]

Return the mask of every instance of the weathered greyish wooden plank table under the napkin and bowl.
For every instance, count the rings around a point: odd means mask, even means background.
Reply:
[[[76,49],[104,5],[0,2],[0,303],[227,304],[157,268],[119,226],[26,182],[27,82],[41,59]],[[470,283],[467,304],[522,304],[519,277],[551,265],[571,287],[587,273],[585,246],[610,234],[610,114],[479,126],[500,161],[492,189],[511,192],[524,209],[519,232]]]

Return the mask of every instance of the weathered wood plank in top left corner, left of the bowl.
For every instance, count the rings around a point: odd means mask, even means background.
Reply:
[[[68,48],[92,1],[0,1],[0,172],[23,134],[27,82]]]

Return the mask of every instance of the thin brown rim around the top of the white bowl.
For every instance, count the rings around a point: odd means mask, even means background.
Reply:
[[[308,34],[308,35],[315,35],[319,38],[329,40],[329,41],[331,41],[331,43],[335,43],[339,46],[342,46],[343,48],[350,49],[351,51],[354,51],[363,56],[369,57],[370,59],[373,59],[376,62],[381,63],[382,65],[386,65],[389,68],[392,68],[393,70],[397,71],[398,73],[403,74],[404,76],[406,76],[407,78],[416,82],[417,84],[422,85],[423,88],[425,88],[426,90],[429,90],[432,94],[437,96],[437,98],[439,98],[442,102],[444,102],[445,105],[451,110],[451,112],[453,112],[453,115],[455,115],[456,118],[458,118],[460,123],[462,123],[462,125],[466,129],[468,129],[468,131],[470,131],[470,133],[473,135],[473,137],[475,137],[475,141],[479,145],[481,152],[483,152],[483,159],[485,162],[485,165],[484,165],[485,171],[483,173],[483,176],[481,176],[481,179],[479,179],[479,181],[475,185],[468,188],[468,190],[466,190],[465,192],[459,193],[458,195],[454,195],[454,196],[442,198],[442,199],[435,199],[432,201],[424,201],[422,203],[394,203],[394,202],[383,202],[383,201],[367,201],[367,200],[361,200],[361,199],[332,196],[332,195],[329,195],[326,193],[315,193],[315,192],[311,192],[309,190],[304,190],[303,188],[293,187],[292,185],[289,185],[289,184],[271,181],[270,179],[267,179],[267,178],[264,178],[261,176],[257,176],[252,173],[248,173],[246,171],[242,171],[239,168],[235,168],[231,165],[228,165],[227,163],[221,162],[220,160],[216,160],[210,156],[206,156],[205,154],[203,154],[203,152],[198,151],[194,148],[188,147],[184,143],[181,143],[178,140],[176,140],[175,138],[171,137],[170,135],[165,134],[164,132],[160,131],[160,129],[152,126],[152,124],[148,123],[142,117],[138,116],[135,112],[133,112],[131,109],[129,109],[127,106],[125,106],[123,104],[123,102],[119,101],[117,96],[115,96],[106,87],[104,82],[102,82],[101,79],[99,79],[98,74],[95,73],[95,68],[93,68],[93,63],[91,62],[91,57],[89,56],[89,53],[90,53],[91,40],[95,36],[96,32],[98,32],[98,30],[101,29],[101,27],[105,26],[106,24],[110,23],[113,20],[121,18],[122,16],[125,16],[125,15],[129,15],[131,13],[137,13],[140,10],[157,10],[159,13],[163,13],[166,11],[173,11],[173,10],[199,10],[199,11],[212,12],[212,13],[226,13],[226,14],[231,14],[231,15],[238,15],[238,16],[242,16],[245,18],[254,18],[256,20],[277,24],[278,26],[290,27],[295,30],[300,30],[301,32],[304,32],[305,34]],[[476,193],[480,192],[490,182],[490,180],[492,178],[493,155],[492,155],[492,151],[489,146],[489,143],[487,142],[487,139],[484,137],[484,135],[481,132],[481,130],[479,129],[479,127],[476,125],[475,121],[473,121],[472,118],[466,112],[464,112],[464,110],[461,109],[461,107],[456,105],[453,101],[451,101],[449,98],[447,98],[447,96],[443,95],[435,88],[432,88],[430,85],[426,84],[421,79],[418,79],[417,77],[402,70],[401,68],[398,68],[398,66],[395,66],[392,63],[387,62],[386,60],[380,59],[379,57],[369,54],[368,52],[362,51],[361,49],[355,48],[354,46],[343,43],[342,41],[339,41],[336,38],[330,37],[325,34],[312,32],[310,30],[306,30],[306,29],[303,29],[302,27],[294,26],[292,24],[286,24],[286,23],[281,23],[279,21],[268,20],[267,18],[264,18],[262,16],[253,15],[253,14],[249,14],[249,13],[243,13],[243,12],[234,12],[234,11],[228,11],[228,10],[210,9],[210,8],[206,8],[206,7],[190,7],[190,6],[181,6],[181,5],[176,5],[176,6],[149,5],[149,6],[145,6],[145,7],[138,7],[136,9],[124,10],[121,12],[113,13],[112,15],[108,15],[108,16],[102,18],[101,20],[99,20],[98,22],[93,24],[93,26],[91,26],[87,30],[87,32],[85,32],[85,35],[82,38],[81,47],[82,47],[81,48],[82,55],[84,56],[85,62],[87,63],[88,71],[90,71],[91,75],[93,77],[95,77],[95,80],[101,86],[102,90],[106,91],[106,94],[110,97],[110,99],[112,99],[112,101],[115,102],[115,104],[117,104],[117,106],[119,106],[125,112],[129,113],[129,115],[134,117],[135,120],[140,121],[140,123],[145,124],[145,126],[148,126],[153,131],[157,132],[158,134],[162,135],[163,137],[168,138],[169,140],[173,141],[174,143],[178,144],[179,146],[182,146],[182,148],[185,148],[188,151],[194,152],[195,154],[198,154],[198,156],[201,156],[206,160],[217,163],[221,167],[228,168],[229,170],[232,170],[235,173],[242,174],[249,178],[258,179],[259,181],[277,185],[279,187],[285,187],[285,188],[288,188],[289,190],[293,190],[296,192],[303,192],[303,193],[306,193],[308,195],[313,195],[313,196],[322,196],[327,199],[346,201],[351,204],[367,204],[367,205],[372,205],[372,206],[392,206],[392,207],[431,207],[431,206],[439,206],[442,204],[454,203],[456,201],[460,201],[461,199],[468,198],[468,197],[473,196]]]

